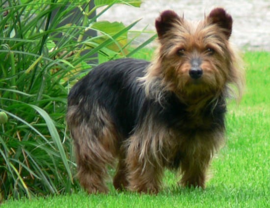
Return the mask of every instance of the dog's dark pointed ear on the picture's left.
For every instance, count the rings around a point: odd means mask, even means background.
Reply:
[[[163,11],[161,15],[156,19],[156,30],[158,32],[159,38],[162,38],[163,35],[173,27],[174,23],[181,21],[182,18],[179,17],[174,11]]]

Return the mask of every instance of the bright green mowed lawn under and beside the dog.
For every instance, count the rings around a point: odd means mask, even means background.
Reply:
[[[136,58],[149,59],[143,50]],[[207,188],[175,186],[179,178],[166,172],[158,195],[117,193],[70,195],[5,201],[1,208],[268,208],[270,207],[270,53],[244,54],[246,89],[239,106],[227,114],[227,143],[214,158]],[[76,192],[76,191],[75,191]]]

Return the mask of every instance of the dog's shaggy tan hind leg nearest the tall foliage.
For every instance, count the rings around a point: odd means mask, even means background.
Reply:
[[[104,110],[96,109],[89,119],[82,117],[77,106],[69,107],[67,122],[75,144],[78,178],[88,193],[107,193],[107,167],[114,165],[118,144],[115,128]]]

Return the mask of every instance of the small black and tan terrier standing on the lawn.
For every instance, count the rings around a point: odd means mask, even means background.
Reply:
[[[117,190],[157,193],[165,168],[181,174],[181,185],[205,187],[224,141],[226,98],[240,98],[244,84],[229,43],[232,23],[223,8],[197,24],[163,11],[152,62],[108,61],[71,89],[67,124],[89,193],[108,192],[107,168],[114,165]]]

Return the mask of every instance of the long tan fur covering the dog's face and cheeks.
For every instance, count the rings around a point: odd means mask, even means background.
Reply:
[[[194,103],[194,99],[202,100],[205,92],[216,98],[224,90],[230,89],[232,95],[240,100],[244,86],[242,59],[239,53],[232,49],[225,35],[216,35],[217,30],[218,27],[211,25],[209,18],[197,24],[184,19],[177,21],[174,28],[159,39],[156,57],[146,75],[139,79],[145,85],[146,94],[162,99],[162,91],[174,91],[189,104],[190,101]],[[215,49],[216,55],[208,57],[205,53],[208,47]],[[184,58],[177,56],[177,50],[181,48],[187,51]],[[189,86],[190,59],[198,55],[204,59],[201,67],[204,71],[203,81],[207,84],[204,88],[199,86],[201,90],[196,89],[196,86]],[[231,88],[232,85],[236,86],[236,89]],[[213,88],[216,90],[213,91]],[[194,91],[197,91],[197,94],[193,94]]]

